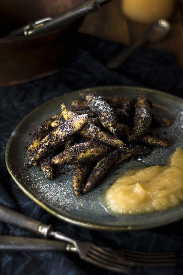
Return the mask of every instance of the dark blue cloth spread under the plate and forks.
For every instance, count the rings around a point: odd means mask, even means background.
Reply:
[[[179,265],[173,268],[134,268],[131,274],[183,274],[183,220],[157,229],[136,232],[103,232],[84,229],[58,220],[32,202],[13,182],[5,166],[5,148],[16,125],[37,106],[72,90],[99,85],[146,86],[182,97],[183,73],[170,52],[140,48],[118,70],[106,61],[125,46],[79,35],[80,50],[61,72],[26,84],[0,88],[0,204],[24,213],[79,240],[99,245],[144,251],[176,251]],[[10,224],[0,223],[1,235],[39,237]],[[114,274],[64,252],[0,252],[1,275]]]

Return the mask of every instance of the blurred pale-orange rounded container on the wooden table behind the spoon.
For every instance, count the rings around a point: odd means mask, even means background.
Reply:
[[[122,0],[121,8],[126,18],[144,24],[158,19],[168,19],[175,0]]]

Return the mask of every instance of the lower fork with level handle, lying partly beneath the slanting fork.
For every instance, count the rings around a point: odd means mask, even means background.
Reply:
[[[110,249],[103,247],[105,252],[111,252],[115,256],[113,263],[121,263],[125,260],[125,265],[135,266],[174,266],[176,264],[176,254],[174,252],[141,252],[129,249]],[[56,240],[44,240],[38,238],[0,236],[0,251],[67,251],[77,252],[71,244]],[[97,253],[95,250],[92,254]],[[103,254],[100,257],[106,260],[113,260],[111,254]],[[108,259],[110,257],[110,259]],[[117,260],[117,262],[116,262]],[[128,262],[126,262],[126,260]]]

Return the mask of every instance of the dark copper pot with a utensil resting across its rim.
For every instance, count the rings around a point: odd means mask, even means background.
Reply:
[[[84,0],[2,0],[0,36],[40,18],[64,12]],[[8,15],[8,16],[7,16]],[[81,21],[31,36],[0,38],[0,86],[24,83],[57,72],[69,62]],[[75,44],[75,43],[74,43]],[[72,53],[72,54],[71,54]]]

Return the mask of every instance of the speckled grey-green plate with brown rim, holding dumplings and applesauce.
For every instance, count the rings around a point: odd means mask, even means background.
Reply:
[[[137,165],[165,165],[168,156],[176,147],[183,148],[183,100],[147,88],[106,86],[87,90],[105,97],[136,97],[139,92],[143,92],[153,101],[154,106],[161,106],[163,112],[169,112],[175,118],[173,125],[159,129],[161,133],[167,132],[166,138],[173,142],[172,145],[168,148],[154,148],[150,156],[142,160],[131,160],[129,163],[117,166],[92,192],[76,197],[72,190],[72,171],[68,172],[66,169],[63,174],[49,181],[44,178],[39,166],[29,169],[26,167],[26,147],[33,128],[50,116],[59,113],[62,102],[70,108],[71,101],[79,98],[76,91],[44,103],[30,112],[15,128],[6,148],[6,165],[13,180],[30,199],[46,211],[64,221],[92,229],[146,229],[183,218],[183,204],[169,210],[148,214],[116,215],[108,210],[104,199],[109,185],[114,183],[125,170]],[[159,135],[161,137],[161,134]]]

